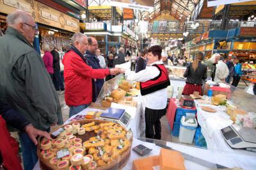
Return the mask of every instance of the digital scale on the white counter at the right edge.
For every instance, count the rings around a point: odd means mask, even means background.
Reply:
[[[221,129],[221,134],[231,148],[256,151],[255,128],[246,128],[231,125],[229,127]]]

